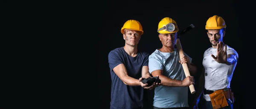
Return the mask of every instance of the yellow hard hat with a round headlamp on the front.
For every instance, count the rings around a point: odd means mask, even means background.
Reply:
[[[165,17],[158,23],[157,32],[160,34],[169,34],[178,32],[177,23],[172,18]]]

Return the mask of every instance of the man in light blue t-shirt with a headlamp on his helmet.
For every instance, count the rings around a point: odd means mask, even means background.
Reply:
[[[161,86],[154,90],[153,109],[189,107],[188,86],[195,82],[193,76],[185,76],[182,64],[187,63],[191,74],[196,72],[196,67],[186,53],[180,59],[175,48],[178,30],[177,23],[169,17],[158,24],[158,36],[163,46],[148,57],[149,73],[159,75],[161,80]]]

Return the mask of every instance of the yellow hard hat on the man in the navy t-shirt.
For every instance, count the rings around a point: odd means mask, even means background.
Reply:
[[[125,22],[123,27],[121,28],[121,33],[124,34],[125,29],[135,30],[135,31],[141,31],[141,34],[143,34],[143,29],[139,21],[137,20],[128,20]]]

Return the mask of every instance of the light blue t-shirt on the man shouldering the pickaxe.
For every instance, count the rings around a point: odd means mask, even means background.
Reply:
[[[187,56],[186,53],[184,55]],[[192,59],[187,57],[191,63]],[[183,80],[186,76],[179,60],[180,57],[176,48],[172,53],[163,53],[157,49],[148,58],[149,73],[154,70],[163,70],[163,75],[172,79]],[[188,87],[156,87],[153,106],[158,108],[189,107]]]

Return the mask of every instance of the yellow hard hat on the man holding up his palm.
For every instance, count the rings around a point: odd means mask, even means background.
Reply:
[[[210,17],[205,25],[205,29],[209,30],[209,29],[221,29],[221,28],[225,28],[226,24],[224,19],[222,19],[222,17],[218,17],[217,15],[214,15],[212,17]]]

